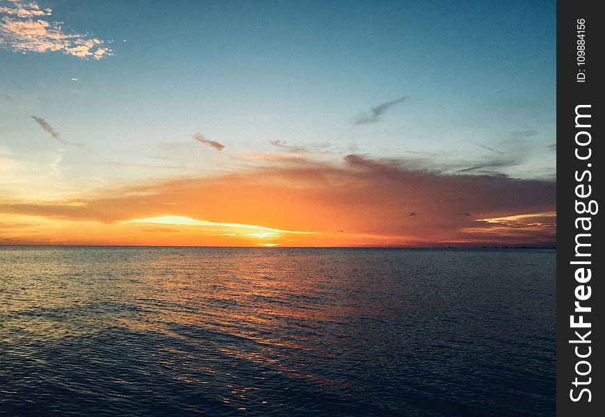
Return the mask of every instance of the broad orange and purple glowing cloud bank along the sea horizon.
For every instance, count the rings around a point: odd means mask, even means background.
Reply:
[[[209,246],[552,246],[556,183],[305,158],[209,178],[2,202],[0,243]]]

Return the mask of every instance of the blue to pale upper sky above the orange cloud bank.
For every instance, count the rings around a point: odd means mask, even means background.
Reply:
[[[303,151],[555,178],[554,1],[0,0],[0,11],[0,190],[13,199]],[[42,38],[13,24],[37,20],[50,25]],[[49,31],[67,46],[40,44]]]

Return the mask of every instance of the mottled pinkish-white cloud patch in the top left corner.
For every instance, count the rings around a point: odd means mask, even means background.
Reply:
[[[50,22],[50,8],[38,3],[11,0],[0,7],[0,48],[16,52],[62,52],[78,58],[101,59],[111,56],[105,42],[88,35],[66,33],[61,22]]]

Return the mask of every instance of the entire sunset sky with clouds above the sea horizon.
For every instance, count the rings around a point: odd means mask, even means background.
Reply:
[[[0,244],[552,246],[554,1],[0,0]]]

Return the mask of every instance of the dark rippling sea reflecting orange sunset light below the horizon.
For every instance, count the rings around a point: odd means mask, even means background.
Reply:
[[[0,247],[0,415],[552,416],[555,257]]]

